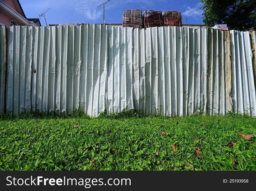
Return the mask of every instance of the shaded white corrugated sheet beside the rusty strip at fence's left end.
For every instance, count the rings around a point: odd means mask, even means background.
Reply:
[[[6,109],[17,114],[31,108],[31,27],[8,27]],[[46,74],[47,75],[47,74]]]

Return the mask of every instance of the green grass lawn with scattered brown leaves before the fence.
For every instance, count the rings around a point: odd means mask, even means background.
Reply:
[[[0,128],[1,170],[256,170],[247,115],[6,114]]]

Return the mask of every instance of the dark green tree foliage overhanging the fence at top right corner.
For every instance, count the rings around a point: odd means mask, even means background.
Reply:
[[[230,30],[256,29],[256,0],[201,0],[203,22],[212,27],[227,24]]]

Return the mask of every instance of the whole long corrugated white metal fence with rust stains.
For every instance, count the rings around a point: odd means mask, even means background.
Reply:
[[[256,114],[255,31],[86,24],[0,32],[1,112],[6,102],[14,114]]]

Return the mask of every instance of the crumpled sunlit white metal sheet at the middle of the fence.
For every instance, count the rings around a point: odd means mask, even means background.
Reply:
[[[132,35],[132,28],[108,27],[106,88],[108,113],[134,109]]]

